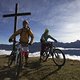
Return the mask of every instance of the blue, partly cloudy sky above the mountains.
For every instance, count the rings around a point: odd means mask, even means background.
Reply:
[[[31,12],[30,16],[18,17],[17,29],[22,28],[24,19],[34,34],[34,42],[39,42],[46,28],[59,42],[80,40],[80,0],[0,0],[0,44],[9,44],[13,34],[14,17],[3,18],[4,14]],[[17,37],[17,39],[19,36]]]

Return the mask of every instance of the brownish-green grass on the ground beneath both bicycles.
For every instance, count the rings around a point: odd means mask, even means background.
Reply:
[[[14,67],[6,64],[7,57],[0,56],[0,80],[15,80]],[[64,66],[58,67],[51,59],[40,63],[38,57],[31,57],[19,80],[80,80],[80,61],[66,60]]]

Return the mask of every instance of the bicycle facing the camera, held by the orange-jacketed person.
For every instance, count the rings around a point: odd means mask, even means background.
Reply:
[[[24,64],[25,54],[28,55],[29,50],[27,49],[27,52],[25,52],[20,42],[18,41],[15,41],[15,42],[16,42],[16,48],[11,52],[8,58],[8,67],[10,67],[14,62],[14,66],[16,68],[15,69],[16,76],[19,76]]]

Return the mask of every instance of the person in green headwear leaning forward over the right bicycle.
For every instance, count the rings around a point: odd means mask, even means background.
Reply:
[[[40,55],[43,55],[46,46],[47,47],[51,46],[51,44],[47,41],[49,38],[57,42],[56,39],[54,39],[51,35],[49,35],[49,30],[46,28],[40,39],[40,42],[41,42]]]

